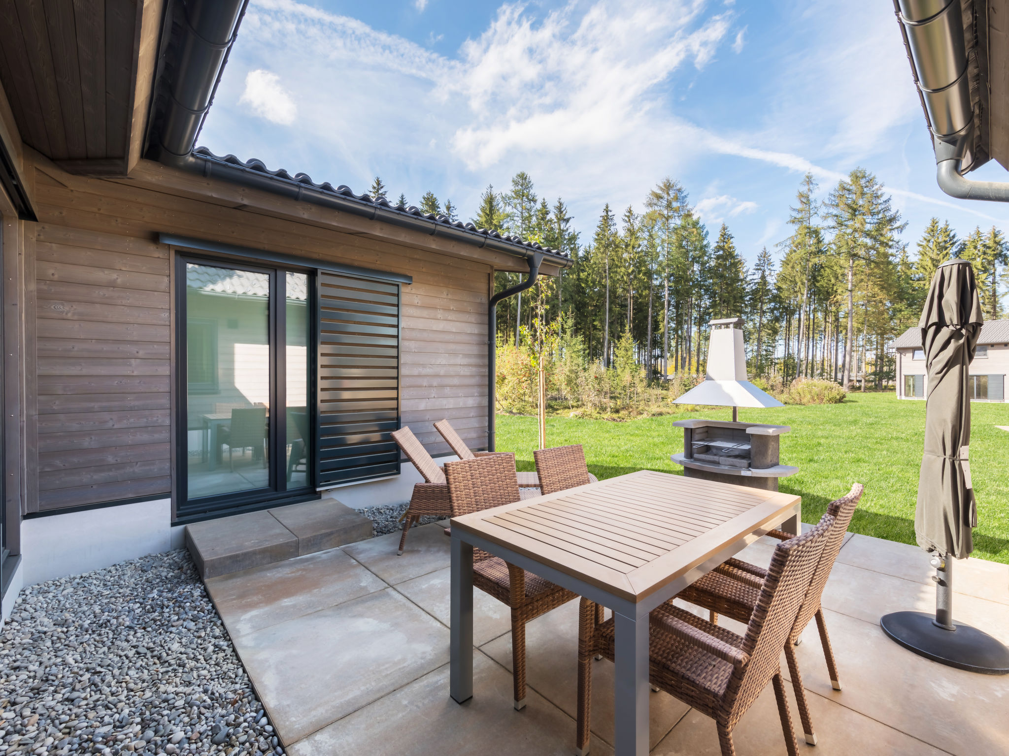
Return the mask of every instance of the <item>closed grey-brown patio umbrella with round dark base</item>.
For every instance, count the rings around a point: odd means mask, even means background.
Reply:
[[[915,653],[989,674],[1009,672],[1009,649],[976,628],[952,621],[952,560],[974,550],[978,508],[971,481],[970,366],[983,322],[974,268],[949,260],[935,271],[918,325],[925,353],[925,445],[914,532],[932,554],[935,616],[895,612],[884,632]]]

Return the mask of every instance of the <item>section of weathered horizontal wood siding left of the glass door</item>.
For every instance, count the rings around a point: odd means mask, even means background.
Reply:
[[[43,223],[34,251],[38,510],[167,495],[169,248]]]

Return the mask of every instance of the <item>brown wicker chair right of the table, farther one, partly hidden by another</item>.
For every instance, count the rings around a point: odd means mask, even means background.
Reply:
[[[833,651],[830,648],[830,637],[826,632],[826,623],[823,620],[823,610],[820,608],[820,599],[823,596],[823,588],[826,586],[827,578],[830,577],[830,570],[837,558],[837,552],[845,541],[845,533],[852,521],[855,508],[862,498],[863,487],[856,483],[852,490],[844,498],[830,502],[827,506],[826,514],[820,522],[824,522],[828,517],[832,518],[833,524],[830,532],[827,533],[823,553],[820,554],[819,563],[813,573],[812,581],[805,599],[802,601],[802,609],[795,620],[795,626],[785,644],[785,659],[788,662],[788,673],[792,678],[792,687],[795,690],[796,703],[799,707],[799,717],[802,720],[802,732],[806,743],[816,745],[816,734],[813,732],[812,718],[809,715],[809,706],[806,702],[805,688],[802,686],[802,675],[799,672],[798,660],[795,657],[795,646],[799,642],[799,636],[806,629],[806,625],[814,617],[816,627],[819,630],[820,643],[823,646],[823,655],[826,657],[827,670],[830,672],[830,684],[833,689],[840,689],[840,681],[837,676],[837,665],[833,659]],[[769,535],[773,535],[781,540],[786,540],[792,536],[780,530],[772,530]],[[767,578],[767,571],[741,559],[728,559],[724,564],[708,573],[699,581],[694,583],[685,591],[682,591],[677,598],[696,604],[711,612],[711,622],[717,622],[718,614],[723,614],[738,622],[749,622],[753,614],[754,607],[760,597],[761,586]]]

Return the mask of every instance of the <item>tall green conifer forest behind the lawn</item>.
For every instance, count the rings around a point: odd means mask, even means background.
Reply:
[[[384,195],[380,179],[372,186]],[[537,196],[517,173],[502,192],[487,186],[471,217],[477,228],[568,253],[559,278],[543,276],[497,305],[498,345],[536,352],[536,342],[576,345],[584,363],[612,368],[627,353],[645,378],[701,376],[707,324],[743,318],[750,376],[788,385],[796,378],[846,388],[894,380],[888,346],[915,326],[935,268],[961,257],[975,268],[986,320],[1004,316],[1009,245],[1002,233],[952,229],[932,218],[920,239],[872,173],[854,169],[828,193],[812,174],[797,186],[789,235],[747,264],[725,224],[707,228],[679,181],[664,178],[640,206],[604,205],[590,238],[572,230],[563,200]],[[406,198],[401,197],[406,204]],[[425,212],[456,218],[428,192]],[[524,278],[497,273],[502,290]],[[623,350],[622,350],[623,345]]]

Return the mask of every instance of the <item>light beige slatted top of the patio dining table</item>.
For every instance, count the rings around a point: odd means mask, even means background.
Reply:
[[[454,517],[452,528],[638,602],[726,544],[767,532],[799,502],[643,470]]]

